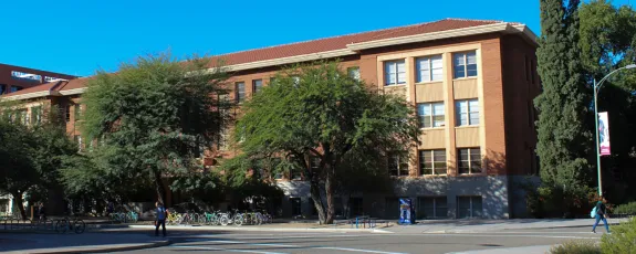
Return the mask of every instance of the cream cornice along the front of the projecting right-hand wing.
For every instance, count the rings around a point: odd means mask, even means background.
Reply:
[[[380,46],[390,46],[390,45],[425,42],[440,39],[477,35],[483,33],[503,32],[507,30],[507,28],[508,23],[484,24],[465,29],[446,30],[432,33],[423,33],[408,36],[388,38],[369,42],[352,43],[346,45],[346,47],[352,51],[361,51]]]

